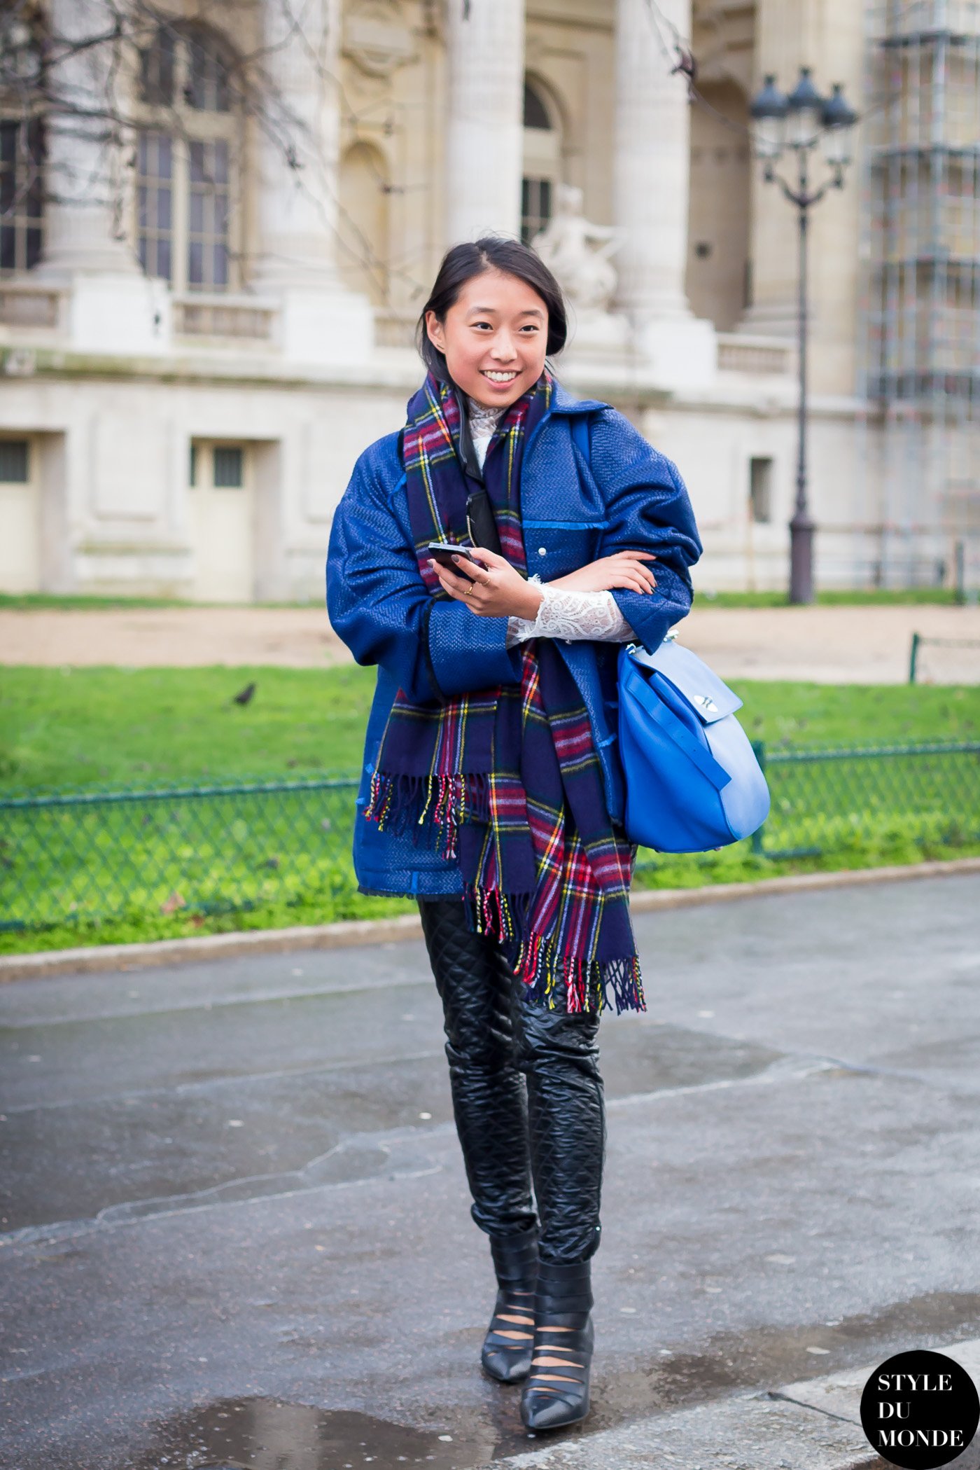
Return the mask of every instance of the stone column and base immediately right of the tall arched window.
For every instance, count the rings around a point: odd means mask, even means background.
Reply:
[[[266,112],[253,285],[278,298],[279,341],[301,362],[364,360],[373,313],[336,269],[341,0],[263,0]]]

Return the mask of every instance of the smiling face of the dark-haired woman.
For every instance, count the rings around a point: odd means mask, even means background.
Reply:
[[[548,307],[519,276],[483,270],[466,282],[445,320],[426,312],[426,331],[463,392],[508,409],[544,370]]]

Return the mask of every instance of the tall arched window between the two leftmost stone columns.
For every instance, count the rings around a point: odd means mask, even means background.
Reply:
[[[147,275],[175,291],[239,284],[239,118],[231,56],[203,28],[162,25],[143,53],[137,237]]]

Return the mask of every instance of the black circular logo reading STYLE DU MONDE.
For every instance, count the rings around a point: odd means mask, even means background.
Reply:
[[[965,1369],[945,1352],[896,1352],[861,1394],[861,1424],[883,1460],[933,1470],[961,1455],[980,1423],[980,1396]]]

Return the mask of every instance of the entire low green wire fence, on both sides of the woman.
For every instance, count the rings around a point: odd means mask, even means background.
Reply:
[[[980,841],[980,741],[757,750],[773,794],[758,857]],[[323,776],[3,800],[0,929],[267,903],[334,916],[357,886],[356,786]],[[639,860],[657,866],[654,853]]]

